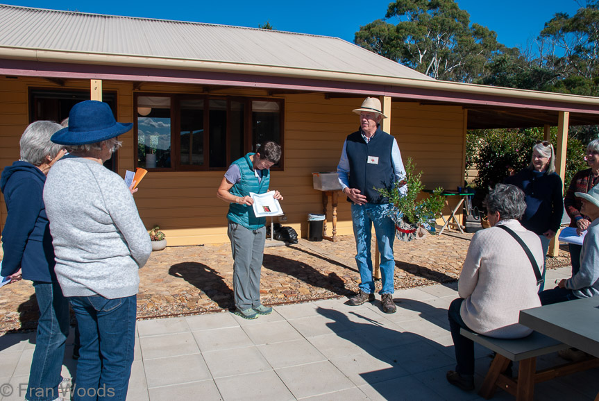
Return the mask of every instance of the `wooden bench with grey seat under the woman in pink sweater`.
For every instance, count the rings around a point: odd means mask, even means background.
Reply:
[[[537,357],[563,350],[568,348],[568,345],[538,332],[532,332],[523,339],[493,339],[464,328],[459,332],[475,343],[497,352],[478,392],[485,400],[492,398],[499,387],[516,396],[516,401],[532,401],[534,384],[599,366],[598,358],[589,357],[583,361],[537,371]],[[520,361],[517,379],[503,374],[509,361]]]

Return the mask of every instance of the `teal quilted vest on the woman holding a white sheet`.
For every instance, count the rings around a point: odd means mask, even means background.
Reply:
[[[243,197],[248,196],[250,192],[255,192],[256,194],[268,192],[271,179],[270,170],[262,170],[262,180],[258,182],[258,177],[255,176],[253,164],[250,160],[250,156],[254,154],[255,153],[248,153],[244,157],[233,162],[233,164],[237,164],[239,167],[239,171],[242,174],[242,180],[231,187],[229,190],[230,194]],[[258,230],[258,228],[264,227],[264,224],[266,224],[267,221],[266,217],[256,217],[251,206],[239,205],[237,203],[229,204],[227,219],[243,225],[248,230]]]

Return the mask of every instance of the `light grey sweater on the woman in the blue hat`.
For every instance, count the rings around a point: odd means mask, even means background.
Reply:
[[[124,180],[98,162],[67,155],[50,169],[44,203],[65,296],[124,298],[152,246]]]

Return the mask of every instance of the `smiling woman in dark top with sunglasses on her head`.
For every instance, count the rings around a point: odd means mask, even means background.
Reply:
[[[543,255],[547,255],[549,241],[555,237],[562,223],[562,178],[555,173],[555,151],[547,141],[537,141],[532,147],[530,165],[505,180],[516,185],[525,194],[526,210],[520,222],[524,228],[539,236]],[[545,268],[543,266],[543,279]],[[539,291],[543,290],[543,283]]]

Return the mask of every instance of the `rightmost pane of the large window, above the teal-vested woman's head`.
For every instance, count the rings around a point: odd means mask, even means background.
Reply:
[[[252,101],[252,139],[254,151],[266,141],[280,144],[280,105],[274,101]]]

